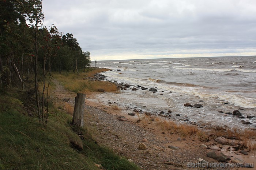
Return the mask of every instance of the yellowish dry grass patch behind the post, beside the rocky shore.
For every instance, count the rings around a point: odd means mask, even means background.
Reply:
[[[115,92],[116,85],[107,81],[91,81],[87,79],[92,77],[97,72],[107,71],[105,68],[92,69],[90,72],[81,73],[80,75],[70,73],[68,75],[62,75],[58,73],[53,74],[53,78],[56,78],[65,89],[75,93],[97,92],[98,89],[103,89],[106,92]],[[82,75],[83,74],[83,75]]]

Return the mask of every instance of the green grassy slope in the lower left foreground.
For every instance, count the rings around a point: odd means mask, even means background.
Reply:
[[[80,139],[69,122],[72,117],[51,108],[47,125],[27,116],[20,92],[0,95],[0,169],[139,169],[108,148],[98,146],[84,127]],[[77,130],[77,128],[75,128]],[[74,149],[70,141],[83,144]]]

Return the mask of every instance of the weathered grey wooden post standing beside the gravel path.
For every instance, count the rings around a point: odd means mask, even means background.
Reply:
[[[75,98],[74,114],[72,124],[83,127],[84,100],[85,94],[78,93]]]

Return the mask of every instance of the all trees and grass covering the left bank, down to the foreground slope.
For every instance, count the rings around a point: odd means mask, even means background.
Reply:
[[[43,23],[42,0],[0,1],[0,169],[138,169],[72,126],[71,106],[54,105],[53,79],[73,92],[109,83],[78,80],[103,70],[72,33]]]

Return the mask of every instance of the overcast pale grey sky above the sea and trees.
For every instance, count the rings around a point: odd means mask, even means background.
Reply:
[[[91,60],[256,55],[256,0],[43,0]]]

